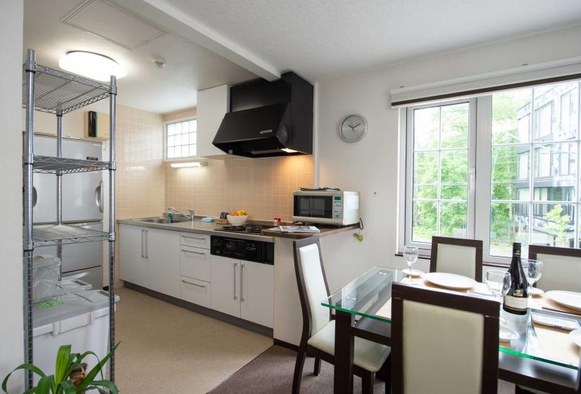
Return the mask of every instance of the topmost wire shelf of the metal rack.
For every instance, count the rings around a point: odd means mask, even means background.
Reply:
[[[54,68],[36,65],[35,73],[35,109],[56,113],[61,103],[63,114],[88,106],[111,94],[111,87],[87,78],[82,78]],[[23,68],[23,107],[26,106],[27,77]]]

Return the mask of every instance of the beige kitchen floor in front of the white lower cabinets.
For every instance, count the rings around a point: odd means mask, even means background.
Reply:
[[[273,339],[128,288],[118,288],[115,360],[120,393],[207,393]]]

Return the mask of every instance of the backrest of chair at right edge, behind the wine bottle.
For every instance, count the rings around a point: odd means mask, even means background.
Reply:
[[[580,249],[530,245],[529,258],[543,262],[542,276],[536,283],[539,288],[581,292]]]

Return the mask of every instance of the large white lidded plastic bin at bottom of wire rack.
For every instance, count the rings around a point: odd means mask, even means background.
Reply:
[[[115,301],[118,300],[115,296]],[[91,350],[99,360],[105,357],[108,305],[108,293],[103,290],[66,293],[36,303],[32,307],[35,365],[47,375],[54,374],[56,352],[61,345],[71,345],[71,351],[77,353]],[[95,357],[87,357],[85,362],[89,369],[96,365]]]

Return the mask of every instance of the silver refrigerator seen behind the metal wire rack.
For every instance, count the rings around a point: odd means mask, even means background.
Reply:
[[[100,142],[63,138],[63,158],[101,160]],[[56,138],[35,135],[35,154],[56,156]],[[104,186],[101,171],[63,174],[63,222],[103,231]],[[33,175],[32,221],[56,222],[56,176]],[[56,255],[56,246],[35,248],[35,255]],[[103,243],[63,245],[63,277],[82,277],[93,288],[103,288]]]

